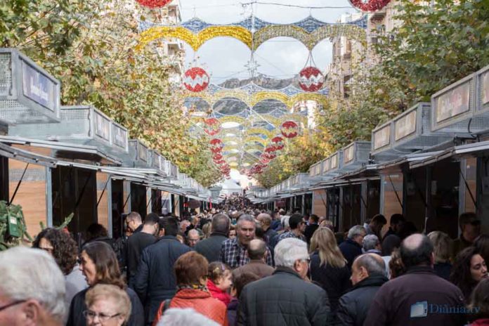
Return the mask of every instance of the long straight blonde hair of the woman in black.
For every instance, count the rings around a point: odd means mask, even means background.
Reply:
[[[320,226],[315,230],[311,238],[309,252],[319,252],[320,265],[330,264],[333,267],[342,268],[346,265],[346,259],[338,248],[336,237],[332,230],[325,226]]]

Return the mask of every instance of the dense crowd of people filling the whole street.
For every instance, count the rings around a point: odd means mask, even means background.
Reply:
[[[456,240],[400,214],[387,223],[340,233],[233,196],[182,216],[132,212],[118,240],[94,224],[80,247],[46,228],[0,252],[0,325],[489,325],[476,214]]]

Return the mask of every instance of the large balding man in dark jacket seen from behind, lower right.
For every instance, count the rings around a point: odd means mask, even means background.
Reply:
[[[464,296],[433,271],[429,238],[419,233],[406,237],[400,259],[407,272],[379,289],[363,325],[464,325]]]

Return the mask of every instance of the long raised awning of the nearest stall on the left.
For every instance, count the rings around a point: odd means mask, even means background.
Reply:
[[[89,145],[74,145],[70,143],[60,143],[57,141],[39,141],[31,138],[0,136],[1,143],[30,145],[38,148],[50,148],[55,150],[54,156],[60,160],[79,160],[89,162],[99,162],[105,165],[120,165],[121,161],[105,154],[98,148]]]

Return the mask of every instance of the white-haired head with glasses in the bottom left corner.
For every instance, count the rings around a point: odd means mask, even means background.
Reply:
[[[0,325],[63,325],[65,277],[47,252],[13,247],[0,252]]]

